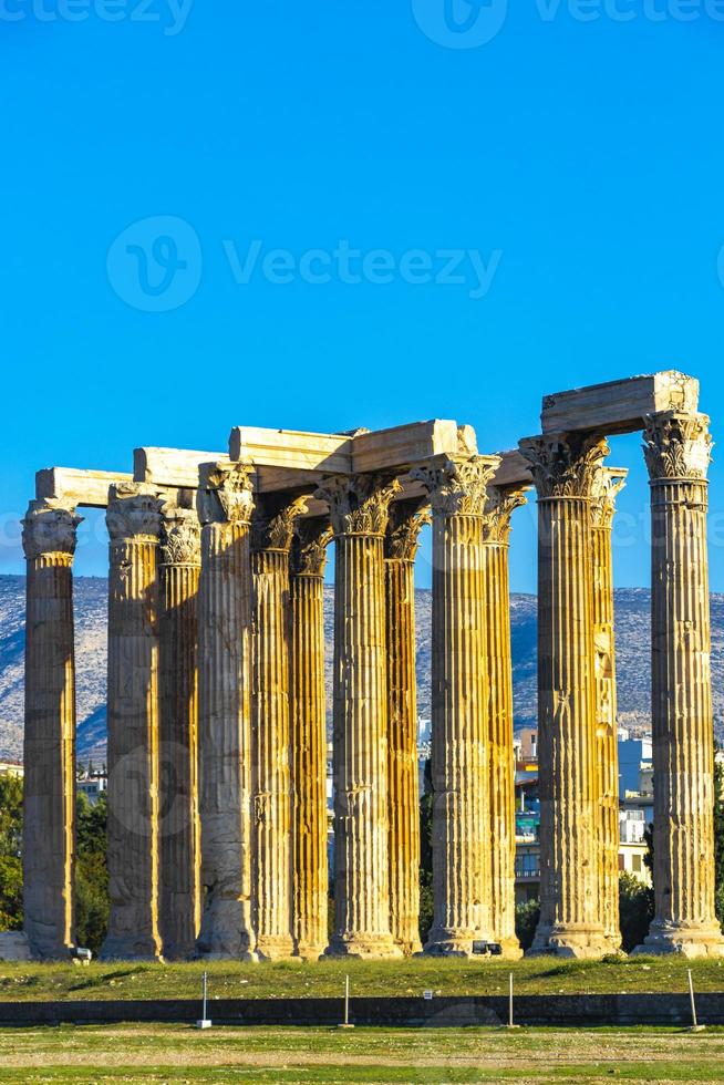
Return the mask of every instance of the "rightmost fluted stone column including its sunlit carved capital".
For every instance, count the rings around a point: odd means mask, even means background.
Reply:
[[[647,420],[655,914],[640,951],[724,955],[714,912],[714,784],[703,414]]]

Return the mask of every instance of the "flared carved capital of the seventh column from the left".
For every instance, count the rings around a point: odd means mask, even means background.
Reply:
[[[334,535],[383,536],[390,503],[402,486],[387,473],[327,478],[316,497],[329,505]]]

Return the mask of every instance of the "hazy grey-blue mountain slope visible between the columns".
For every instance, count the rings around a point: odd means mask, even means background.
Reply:
[[[79,756],[105,756],[105,668],[107,582],[95,577],[75,580],[75,652]],[[0,576],[0,760],[22,758],[24,577]],[[324,589],[327,681],[331,693],[332,611],[334,592]],[[712,596],[712,671],[714,720],[724,736],[724,595]],[[417,707],[430,719],[432,592],[415,592],[417,622]],[[510,599],[513,680],[516,728],[535,726],[536,597]],[[616,592],[616,638],[619,723],[648,728],[651,715],[650,592],[624,588]],[[329,698],[331,704],[331,696]]]

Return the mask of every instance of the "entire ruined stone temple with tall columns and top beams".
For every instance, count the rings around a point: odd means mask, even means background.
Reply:
[[[647,952],[724,954],[714,913],[709,420],[675,372],[544,400],[488,454],[433,421],[235,428],[227,452],[50,468],[24,519],[25,934],[73,928],[73,554],[105,508],[107,959],[520,954],[508,537],[538,500],[541,916],[534,952],[620,946],[611,525],[641,431],[651,480],[655,918]],[[434,921],[418,918],[413,568],[433,533]],[[322,592],[334,548],[334,919]],[[477,943],[477,946],[476,946]]]

